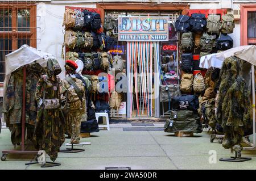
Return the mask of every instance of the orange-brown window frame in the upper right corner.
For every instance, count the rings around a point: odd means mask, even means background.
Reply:
[[[240,45],[248,45],[249,43],[256,44],[256,38],[248,39],[248,11],[256,11],[256,3],[254,4],[241,4],[240,5]]]

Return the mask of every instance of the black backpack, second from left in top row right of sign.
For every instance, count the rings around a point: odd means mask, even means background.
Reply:
[[[189,24],[191,25],[191,31],[203,32],[207,26],[207,19],[205,18],[205,14],[193,13],[191,15]]]

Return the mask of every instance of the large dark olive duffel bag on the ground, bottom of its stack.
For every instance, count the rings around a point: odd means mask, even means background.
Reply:
[[[170,119],[164,124],[164,132],[178,131],[201,133],[203,129],[198,113],[188,110],[171,111]]]

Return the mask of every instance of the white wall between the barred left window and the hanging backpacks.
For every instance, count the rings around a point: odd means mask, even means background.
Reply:
[[[65,6],[76,7],[96,7],[87,4],[51,4],[51,3],[38,3],[36,7],[37,12],[37,48],[43,52],[51,53],[56,56],[63,71],[60,74],[61,78],[65,75],[65,61],[61,58],[61,48],[64,40],[63,15]]]

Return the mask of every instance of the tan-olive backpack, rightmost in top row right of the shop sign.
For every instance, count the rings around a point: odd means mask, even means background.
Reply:
[[[222,16],[221,32],[222,33],[233,33],[234,31],[234,15],[225,14]]]

